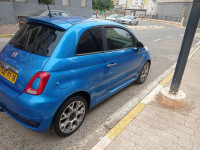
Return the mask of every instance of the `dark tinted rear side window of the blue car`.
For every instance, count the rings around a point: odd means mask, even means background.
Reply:
[[[89,29],[83,33],[79,40],[77,54],[103,51],[102,45],[101,28]]]

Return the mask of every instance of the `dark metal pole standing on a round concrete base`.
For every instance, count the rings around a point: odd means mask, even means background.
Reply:
[[[194,0],[169,93],[177,94],[200,19],[200,0]]]

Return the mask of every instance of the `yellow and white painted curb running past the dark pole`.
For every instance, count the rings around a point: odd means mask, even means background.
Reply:
[[[200,50],[200,41],[192,48],[188,60]],[[176,64],[176,63],[175,63]],[[175,65],[172,65],[174,67]],[[174,71],[165,77],[147,96],[139,102],[125,117],[122,118],[93,148],[104,150],[109,144],[132,122],[132,120],[145,108],[145,106],[159,93],[159,91],[172,79]]]

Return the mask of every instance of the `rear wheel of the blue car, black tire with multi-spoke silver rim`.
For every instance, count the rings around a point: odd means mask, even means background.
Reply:
[[[75,107],[77,107],[79,105],[78,103],[81,104],[81,109],[85,108],[84,111],[82,110],[84,112],[84,115],[75,113],[75,111],[74,112],[69,111],[71,109],[71,107],[73,107],[73,109],[75,109]],[[83,105],[83,107],[82,107],[82,105]],[[76,108],[76,109],[77,109],[77,112],[81,110],[80,107]],[[71,97],[70,99],[68,99],[66,102],[64,102],[64,104],[61,105],[61,107],[57,110],[57,112],[54,116],[54,119],[52,122],[53,133],[55,133],[57,136],[60,136],[60,137],[67,137],[67,136],[70,136],[71,134],[73,134],[83,123],[86,113],[87,113],[87,109],[88,109],[88,105],[87,105],[87,101],[84,97],[74,96],[74,97]],[[63,116],[64,117],[67,116],[67,117],[64,118]],[[81,118],[80,122],[78,121],[78,117]],[[76,121],[76,123],[75,123],[75,121]],[[67,124],[62,129],[62,127],[61,127],[62,124],[65,124],[66,122],[67,122]],[[77,125],[75,125],[75,124],[77,124]],[[66,128],[69,128],[69,129],[66,129]],[[65,130],[65,131],[63,131],[63,130]]]

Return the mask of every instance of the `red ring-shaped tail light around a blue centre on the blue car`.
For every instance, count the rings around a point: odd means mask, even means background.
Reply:
[[[47,82],[49,80],[49,77],[50,77],[50,73],[48,72],[43,72],[43,71],[37,72],[28,82],[24,92],[28,94],[32,94],[32,95],[40,95],[44,91],[47,85]],[[33,89],[31,88],[31,86],[33,85],[34,81],[37,78],[40,79],[38,89]]]

